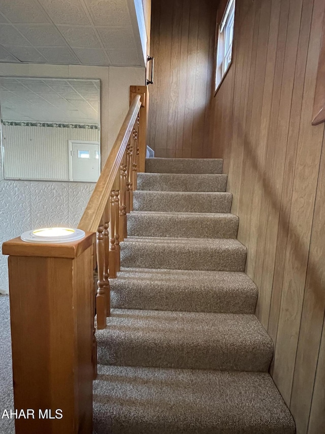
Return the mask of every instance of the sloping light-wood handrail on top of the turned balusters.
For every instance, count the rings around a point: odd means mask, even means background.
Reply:
[[[140,107],[140,95],[137,95],[132,101],[110,155],[101,172],[101,176],[96,183],[88,205],[80,219],[78,225],[79,229],[89,232],[96,232],[99,225],[101,224],[103,213],[107,204],[107,199],[110,195],[110,191],[113,189],[113,185],[126,150],[127,142],[133,131]]]

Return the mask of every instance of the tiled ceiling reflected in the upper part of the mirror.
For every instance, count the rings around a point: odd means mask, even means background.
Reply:
[[[0,77],[4,121],[96,124],[100,80]]]

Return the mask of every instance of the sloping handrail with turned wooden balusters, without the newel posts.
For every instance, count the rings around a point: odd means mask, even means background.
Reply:
[[[132,211],[137,185],[140,107],[137,95],[78,225],[85,232],[96,232],[98,329],[106,327],[106,317],[110,315],[109,277],[116,278],[120,270],[119,243],[126,237],[126,213]]]

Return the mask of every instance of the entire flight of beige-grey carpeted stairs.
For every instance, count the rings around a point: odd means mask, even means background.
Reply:
[[[146,161],[112,315],[96,332],[97,434],[291,434],[269,373],[273,343],[222,160]]]

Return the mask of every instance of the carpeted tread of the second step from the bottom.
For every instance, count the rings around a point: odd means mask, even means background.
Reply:
[[[113,332],[134,341],[145,339],[151,345],[161,340],[168,340],[169,345],[186,342],[228,348],[259,344],[273,352],[270,336],[253,314],[112,309],[107,328],[96,332],[96,336],[101,342]]]

